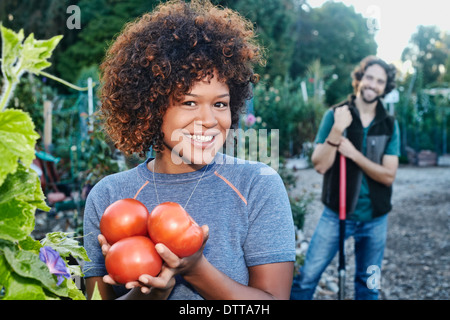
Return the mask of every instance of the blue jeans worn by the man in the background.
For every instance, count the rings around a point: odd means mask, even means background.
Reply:
[[[355,299],[377,300],[386,245],[387,214],[367,222],[346,220],[345,239],[355,240]],[[292,300],[311,300],[320,277],[339,250],[339,217],[325,207],[311,238]],[[337,266],[336,266],[337,269]]]

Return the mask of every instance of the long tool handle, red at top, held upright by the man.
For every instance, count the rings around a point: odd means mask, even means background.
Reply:
[[[339,292],[338,299],[345,297],[345,219],[346,219],[346,198],[347,198],[347,165],[345,157],[340,154],[339,173]]]

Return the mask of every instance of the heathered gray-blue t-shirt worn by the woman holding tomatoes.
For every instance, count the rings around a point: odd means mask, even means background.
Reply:
[[[106,207],[119,199],[133,198],[146,181],[137,200],[149,212],[158,204],[153,173],[147,168],[150,160],[103,178],[89,193],[84,212],[84,247],[92,261],[83,267],[86,278],[107,274],[97,241]],[[184,206],[202,174],[185,209],[199,225],[209,226],[203,253],[212,265],[247,285],[248,267],[295,261],[292,212],[283,181],[275,170],[218,153],[209,166],[195,172],[156,173],[159,200]],[[176,281],[169,299],[202,299],[182,277]],[[127,292],[123,286],[114,289],[118,295]]]

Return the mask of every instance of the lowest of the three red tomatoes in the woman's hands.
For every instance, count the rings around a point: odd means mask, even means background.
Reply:
[[[158,275],[162,259],[150,238],[135,236],[113,244],[106,254],[105,266],[114,281],[125,284],[137,281],[143,274]]]

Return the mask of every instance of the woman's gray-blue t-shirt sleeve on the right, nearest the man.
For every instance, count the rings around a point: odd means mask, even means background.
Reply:
[[[247,266],[295,261],[292,211],[281,177],[260,175],[249,193],[249,227],[244,243]]]

